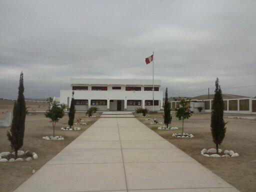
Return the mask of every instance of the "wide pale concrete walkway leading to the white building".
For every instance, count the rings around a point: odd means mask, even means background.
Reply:
[[[137,119],[99,118],[15,190],[20,191],[238,190]]]

